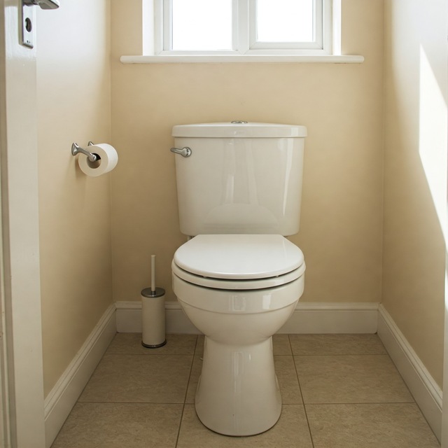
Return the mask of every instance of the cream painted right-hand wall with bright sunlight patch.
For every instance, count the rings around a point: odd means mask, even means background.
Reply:
[[[386,0],[383,304],[442,386],[447,3]]]

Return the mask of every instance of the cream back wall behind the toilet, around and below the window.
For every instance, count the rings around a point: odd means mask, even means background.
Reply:
[[[141,0],[113,0],[114,300],[139,300],[158,255],[167,300],[179,232],[172,126],[251,120],[305,125],[302,300],[379,302],[383,2],[342,0],[343,52],[363,64],[121,64],[141,54]]]

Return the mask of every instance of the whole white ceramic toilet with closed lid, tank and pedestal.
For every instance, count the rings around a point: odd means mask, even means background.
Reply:
[[[173,127],[181,232],[173,288],[205,335],[195,407],[225,435],[268,430],[281,395],[272,335],[304,288],[299,230],[303,126],[205,123]]]

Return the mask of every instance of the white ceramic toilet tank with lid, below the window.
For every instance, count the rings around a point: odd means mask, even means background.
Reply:
[[[184,235],[299,231],[307,128],[272,123],[177,125],[179,221]]]

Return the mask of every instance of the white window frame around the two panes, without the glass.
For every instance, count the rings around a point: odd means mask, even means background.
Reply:
[[[332,55],[332,0],[314,0],[316,41],[270,43],[256,41],[255,0],[232,0],[232,50],[171,50],[171,0],[154,1],[155,56]]]

